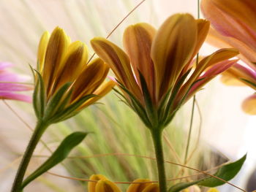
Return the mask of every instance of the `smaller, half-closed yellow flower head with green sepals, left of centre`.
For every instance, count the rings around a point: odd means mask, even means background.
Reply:
[[[100,58],[88,62],[83,42],[70,42],[64,30],[42,35],[37,54],[34,108],[37,117],[59,122],[105,96],[116,82],[104,82],[109,67]],[[50,109],[50,110],[49,110]]]

